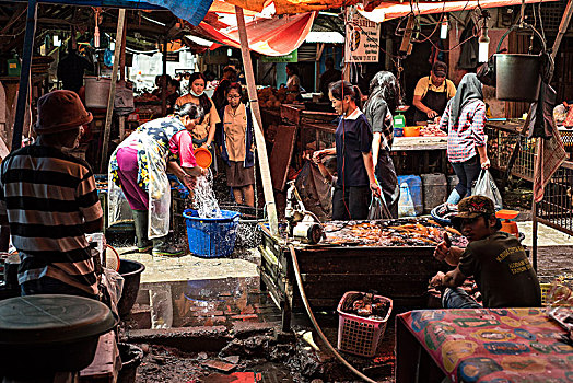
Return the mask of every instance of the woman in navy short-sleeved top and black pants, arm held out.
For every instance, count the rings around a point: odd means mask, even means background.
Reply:
[[[371,193],[379,196],[372,162],[372,129],[360,111],[362,94],[358,86],[339,80],[329,85],[328,96],[340,115],[335,132],[336,147],[313,153],[314,160],[337,155],[338,179],[332,196],[334,220],[364,220]]]

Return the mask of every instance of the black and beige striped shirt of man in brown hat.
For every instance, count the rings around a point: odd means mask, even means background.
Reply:
[[[97,294],[83,224],[103,213],[86,162],[50,147],[19,149],[2,162],[0,199],[21,257],[21,285],[48,276]]]

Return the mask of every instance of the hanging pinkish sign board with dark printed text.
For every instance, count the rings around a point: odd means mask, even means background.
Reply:
[[[344,62],[378,62],[381,25],[347,8]]]

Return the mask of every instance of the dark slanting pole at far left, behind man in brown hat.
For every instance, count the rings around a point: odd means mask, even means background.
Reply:
[[[24,129],[24,114],[26,112],[30,71],[32,68],[32,50],[34,49],[34,35],[36,34],[37,11],[37,0],[28,0],[26,34],[24,36],[24,47],[22,51],[22,69],[20,72],[16,115],[14,118],[14,129],[12,130],[12,151],[17,150],[20,147],[22,147],[22,131]]]

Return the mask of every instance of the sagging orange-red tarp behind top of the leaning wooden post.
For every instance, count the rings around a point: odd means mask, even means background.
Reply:
[[[249,48],[266,56],[283,56],[299,48],[311,32],[316,12],[257,20],[246,25]],[[221,44],[241,48],[238,30],[217,30],[202,22],[196,32]],[[214,49],[217,46],[212,46]]]

